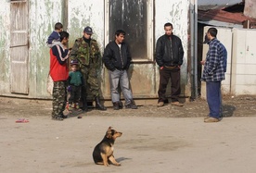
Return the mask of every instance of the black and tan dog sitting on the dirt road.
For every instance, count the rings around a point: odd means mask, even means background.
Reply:
[[[99,142],[93,152],[93,158],[96,165],[104,165],[109,167],[109,161],[115,166],[121,166],[113,155],[114,153],[114,142],[116,138],[121,137],[122,132],[112,130],[112,127],[106,132],[103,140]]]

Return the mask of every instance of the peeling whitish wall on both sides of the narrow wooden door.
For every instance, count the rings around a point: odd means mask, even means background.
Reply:
[[[10,92],[10,2],[0,0],[0,74],[1,88],[0,95],[30,97],[30,98],[51,98],[46,92],[46,80],[49,72],[49,48],[45,42],[48,35],[54,30],[57,21],[62,22],[63,1],[39,1],[28,0],[29,10],[29,94],[16,94]],[[27,74],[20,74],[22,75]]]

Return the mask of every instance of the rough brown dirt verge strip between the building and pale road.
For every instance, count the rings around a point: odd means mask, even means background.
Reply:
[[[51,101],[28,100],[9,97],[0,97],[0,109],[5,116],[12,117],[38,117],[51,115]],[[157,105],[157,103],[156,103]],[[209,108],[205,100],[197,99],[193,102],[186,102],[185,106],[178,107],[165,105],[139,106],[137,110],[122,109],[114,111],[108,107],[107,111],[98,111],[94,108],[83,113],[83,116],[134,116],[134,117],[205,117],[209,113]],[[256,95],[224,96],[223,116],[224,117],[250,117],[255,116]]]

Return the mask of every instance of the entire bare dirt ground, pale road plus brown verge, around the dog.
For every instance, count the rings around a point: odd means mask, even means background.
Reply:
[[[0,97],[0,172],[255,172],[256,96],[224,96],[221,122],[203,123],[205,100],[184,107],[90,111],[51,120],[51,101]],[[27,123],[16,123],[26,118]],[[121,167],[96,166],[92,152],[112,126]]]

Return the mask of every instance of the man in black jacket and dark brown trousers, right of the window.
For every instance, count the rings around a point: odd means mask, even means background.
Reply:
[[[160,87],[158,106],[163,106],[166,87],[171,78],[172,105],[183,106],[178,100],[181,93],[180,67],[183,64],[184,50],[181,39],[173,35],[173,24],[164,24],[165,34],[160,36],[156,47],[156,61],[160,66]]]

